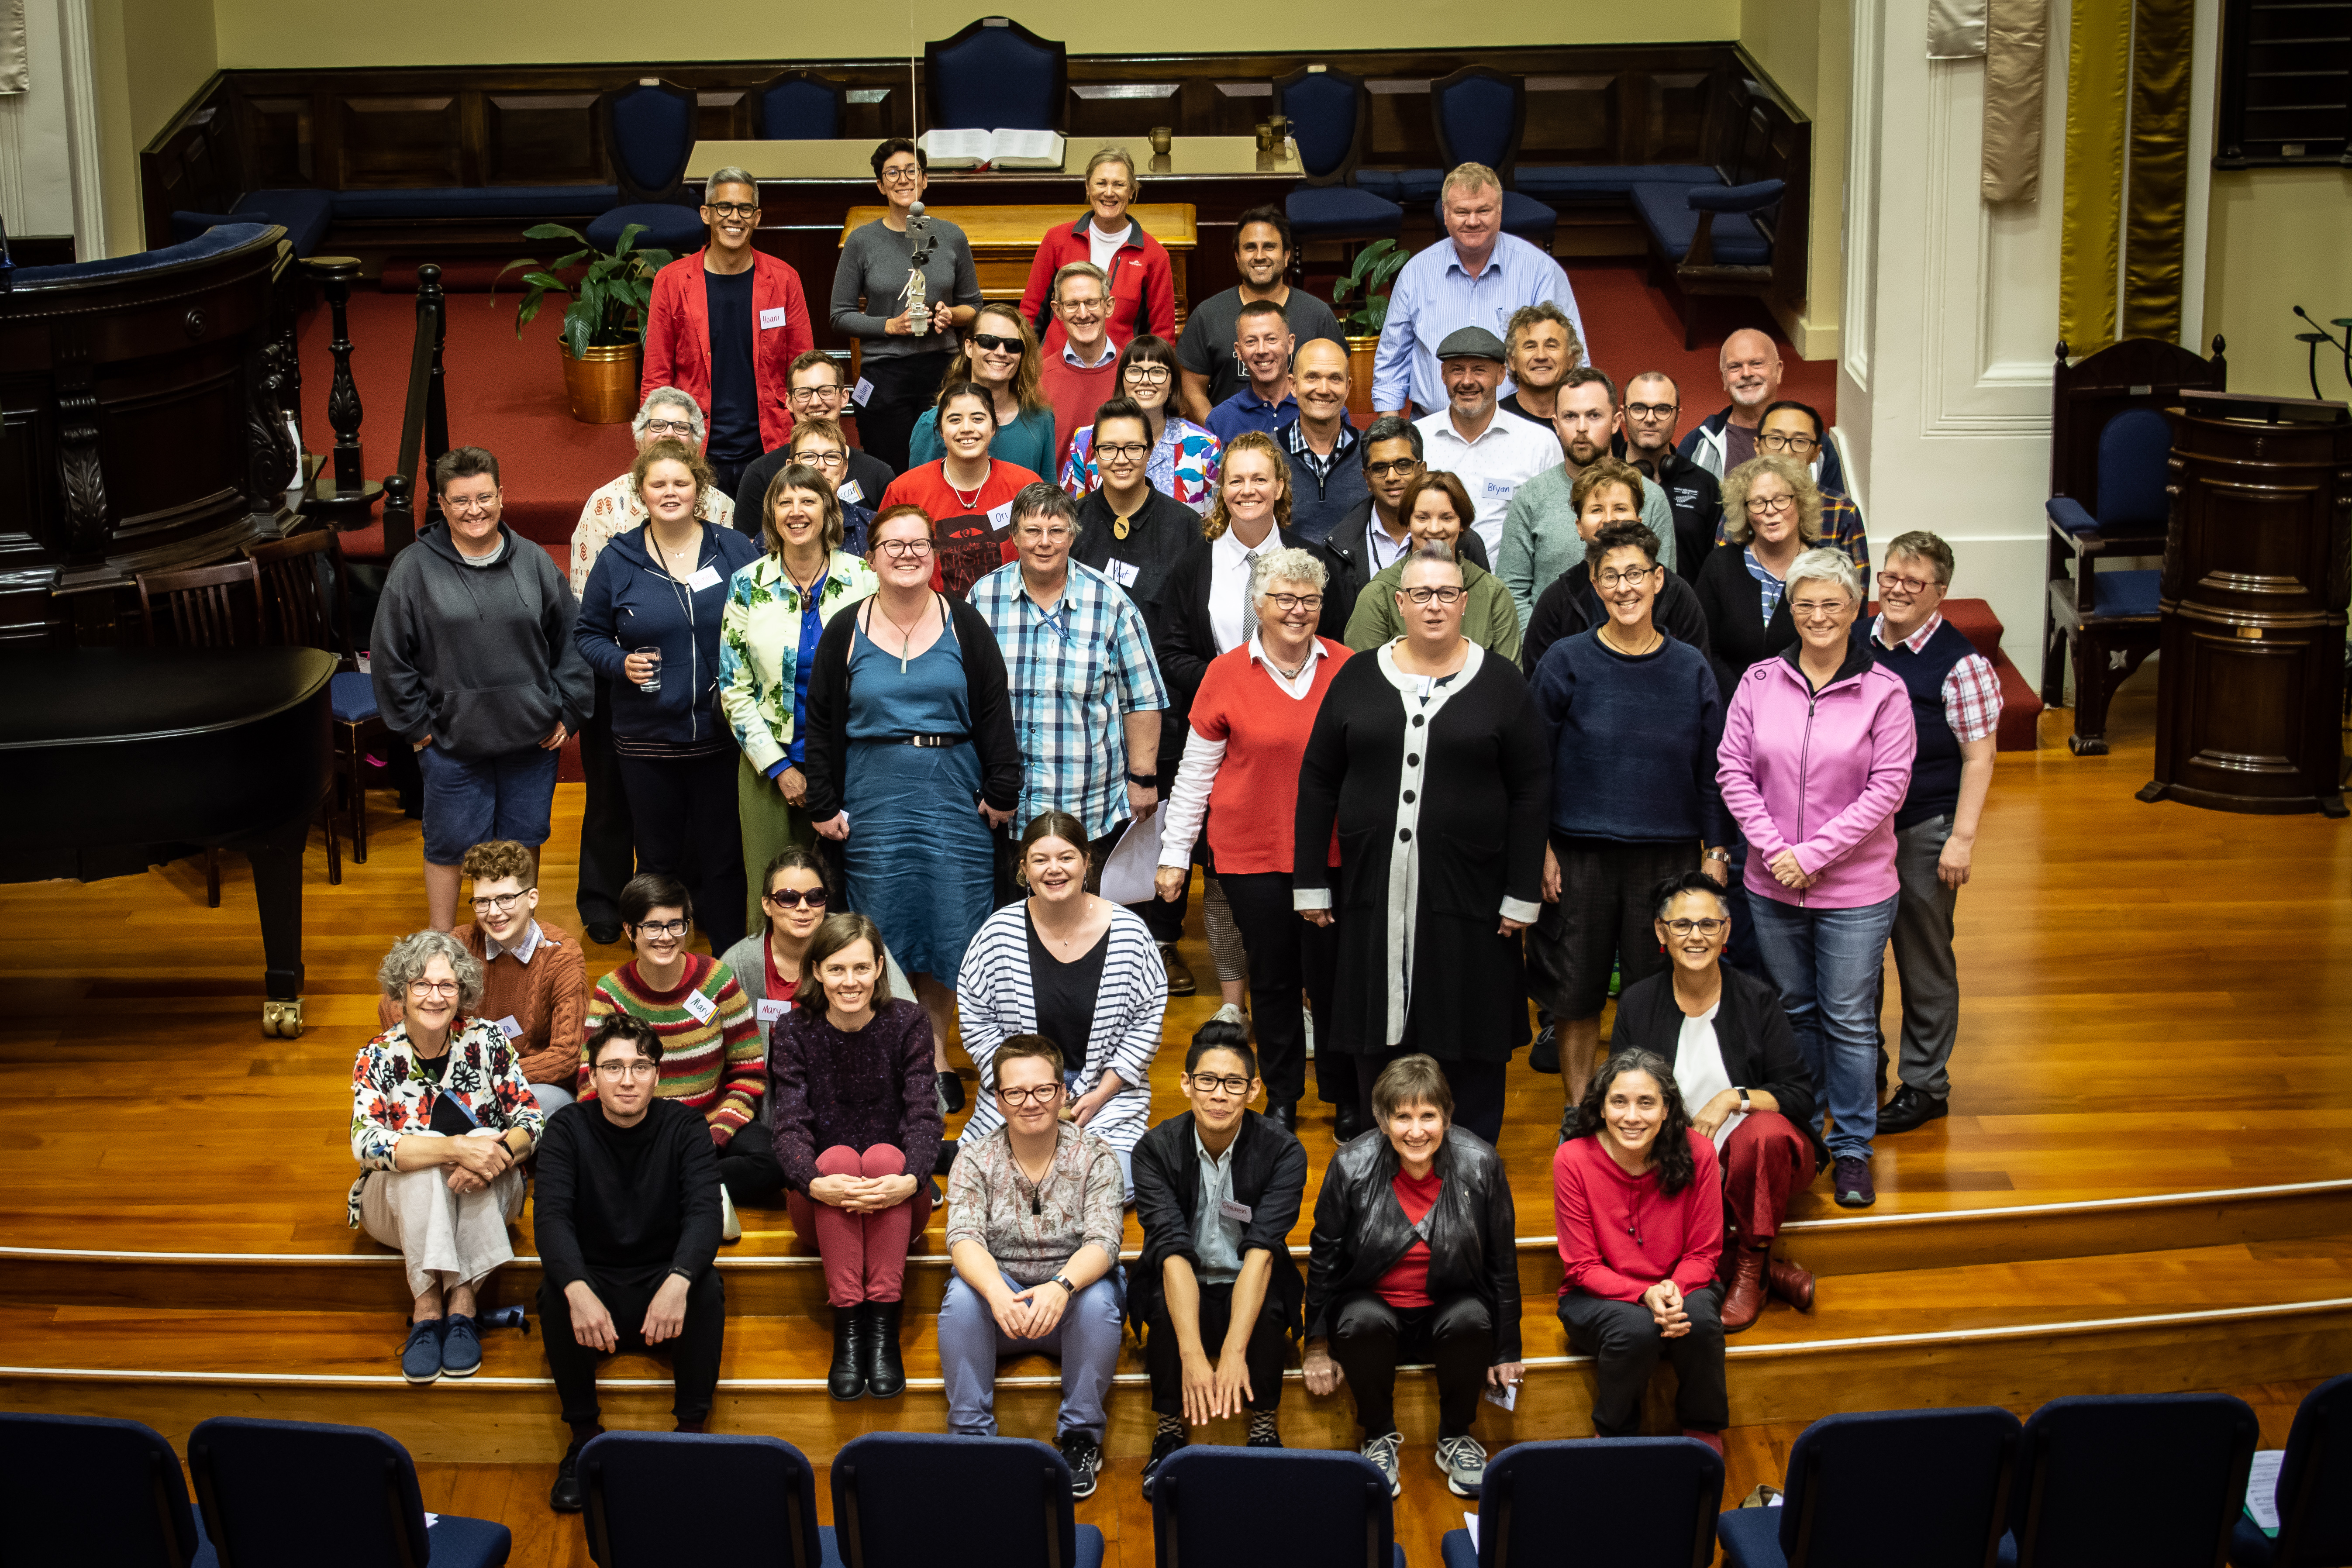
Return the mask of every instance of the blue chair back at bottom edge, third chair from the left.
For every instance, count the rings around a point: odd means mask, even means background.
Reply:
[[[783,1439],[604,1432],[581,1448],[581,1488],[588,1556],[604,1568],[842,1563],[816,1523],[816,1472]]]

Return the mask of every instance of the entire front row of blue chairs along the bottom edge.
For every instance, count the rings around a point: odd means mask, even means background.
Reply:
[[[2343,1568],[2352,1375],[2303,1401],[2279,1530],[2244,1514],[2260,1429],[2227,1394],[2053,1399],[1828,1415],[1776,1507],[1722,1509],[1724,1460],[1686,1436],[1519,1443],[1486,1467],[1479,1533],[1444,1568]],[[0,1415],[0,1561],[120,1568],[494,1568],[513,1537],[428,1516],[409,1453],[367,1427],[207,1420],[169,1443],[129,1420]],[[607,1432],[581,1453],[602,1568],[1098,1568],[1070,1469],[1044,1443],[875,1432],[816,1472],[771,1436]],[[1183,1448],[1152,1488],[1157,1568],[1404,1568],[1388,1483],[1355,1453]]]

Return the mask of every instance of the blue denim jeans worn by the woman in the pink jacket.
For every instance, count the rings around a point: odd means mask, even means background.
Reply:
[[[1748,910],[1797,1053],[1830,1112],[1830,1154],[1870,1159],[1870,1138],[1879,1131],[1875,1009],[1896,898],[1853,910],[1804,910],[1750,896]],[[1818,1119],[1813,1131],[1820,1131]]]

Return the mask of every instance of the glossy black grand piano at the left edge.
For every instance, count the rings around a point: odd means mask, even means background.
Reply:
[[[0,882],[254,865],[261,1032],[301,1034],[301,856],[334,785],[320,649],[0,651]]]

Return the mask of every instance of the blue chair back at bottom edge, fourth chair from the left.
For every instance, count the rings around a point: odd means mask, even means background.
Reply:
[[[946,1519],[988,1521],[957,1530]],[[833,1533],[849,1568],[1101,1568],[1103,1533],[1077,1523],[1070,1467],[1021,1436],[868,1432],[833,1460]]]

